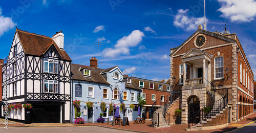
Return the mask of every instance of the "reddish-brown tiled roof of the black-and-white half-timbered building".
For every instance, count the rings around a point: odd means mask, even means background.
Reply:
[[[65,50],[59,49],[52,38],[29,33],[19,29],[16,29],[16,32],[23,46],[25,54],[41,56],[50,48],[50,46],[54,45],[56,50],[59,52],[59,55],[61,56],[60,59],[71,61],[67,52]]]

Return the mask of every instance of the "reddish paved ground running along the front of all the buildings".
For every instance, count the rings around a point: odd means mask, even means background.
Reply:
[[[115,125],[112,126],[107,125],[107,123],[84,123],[84,124],[62,124],[62,123],[33,123],[33,124],[23,124],[19,122],[13,122],[13,121],[8,121],[8,127],[71,127],[71,126],[98,126],[98,127],[104,127],[104,128],[112,128],[112,129],[118,129],[118,130],[126,130],[126,131],[132,131],[132,132],[170,132],[170,131],[175,131],[175,132],[225,132],[225,131],[230,131],[236,128],[240,128],[247,123],[256,120],[256,113],[240,120],[239,122],[236,123],[229,123],[228,126],[224,128],[219,128],[219,129],[212,129],[212,130],[197,130],[197,131],[185,131],[186,128],[188,128],[188,125],[170,125],[170,127],[166,128],[160,128],[160,129],[155,129],[151,127],[151,120],[146,120],[144,124],[135,124],[133,122],[129,122],[129,125],[126,126],[121,126]],[[0,119],[0,127],[5,126],[5,121],[4,119]]]

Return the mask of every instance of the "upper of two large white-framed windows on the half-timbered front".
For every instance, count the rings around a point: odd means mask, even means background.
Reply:
[[[44,72],[58,73],[58,60],[44,59]]]

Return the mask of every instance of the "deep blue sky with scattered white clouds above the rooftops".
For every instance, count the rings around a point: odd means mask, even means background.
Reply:
[[[0,2],[0,58],[8,56],[15,26],[52,36],[62,30],[64,49],[73,63],[99,68],[118,65],[124,74],[145,79],[170,77],[169,54],[204,23],[203,0],[198,1],[49,1]],[[256,74],[255,0],[206,0],[208,31],[236,33]]]

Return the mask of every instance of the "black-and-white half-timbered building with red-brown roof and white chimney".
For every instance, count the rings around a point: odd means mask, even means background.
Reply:
[[[4,60],[3,88],[8,104],[32,104],[10,109],[10,120],[24,123],[69,123],[71,59],[63,50],[62,31],[53,37],[16,29]],[[5,95],[5,94],[4,94]],[[4,106],[2,105],[2,110]],[[4,114],[2,112],[2,117]]]

